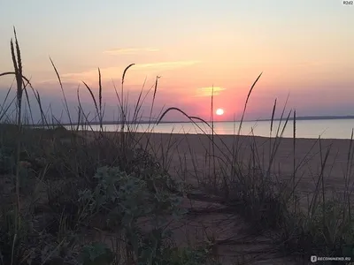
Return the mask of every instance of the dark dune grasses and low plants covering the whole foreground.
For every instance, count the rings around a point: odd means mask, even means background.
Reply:
[[[185,157],[180,157],[181,179],[190,176],[197,179],[198,186],[190,186],[170,174],[168,157],[173,155],[173,143],[160,147],[162,155],[158,158],[152,152],[150,133],[136,133],[135,125],[127,121],[129,110],[124,98],[124,79],[134,64],[123,72],[121,93],[115,88],[120,105],[120,132],[104,132],[104,88],[99,70],[98,98],[86,83],[84,86],[95,105],[100,130],[94,132],[92,129],[91,118],[81,107],[79,92],[77,122],[73,122],[73,113],[65,100],[65,111],[71,121],[65,128],[56,117],[51,120],[47,117],[42,110],[39,92],[23,75],[19,43],[14,33],[14,42],[11,41],[14,72],[0,73],[0,77],[13,75],[17,83],[15,100],[8,103],[10,88],[0,110],[0,264],[219,264],[218,246],[232,242],[235,235],[229,235],[229,239],[223,241],[208,236],[209,240],[201,246],[188,244],[182,247],[173,242],[171,223],[196,214],[195,209],[183,207],[182,201],[192,195],[203,201],[205,193],[214,196],[209,200],[218,201],[219,208],[207,208],[204,212],[227,211],[234,217],[241,215],[250,223],[254,233],[271,237],[273,249],[279,254],[292,255],[301,263],[308,261],[311,254],[354,254],[349,181],[353,135],[343,178],[346,188],[335,197],[329,197],[324,189],[324,168],[331,150],[322,147],[320,139],[317,141],[321,150],[319,176],[315,190],[308,198],[308,208],[304,209],[300,207],[297,193],[301,179],[297,171],[302,162],[295,158],[295,110],[286,115],[284,107],[281,123],[273,135],[277,108],[277,102],[274,102],[269,154],[266,154],[269,161],[262,161],[265,154],[258,150],[255,142],[251,142],[246,146],[250,148],[251,156],[247,157],[249,163],[245,164],[241,138],[237,137],[242,123],[235,133],[234,146],[229,147],[213,133],[212,123],[189,116],[180,109],[169,108],[157,123],[169,111],[180,111],[196,126],[199,126],[196,122],[203,122],[212,130],[204,135],[210,141],[210,147],[205,148],[207,170],[198,168],[191,150],[190,163],[194,167],[191,172],[183,169]],[[59,72],[51,59],[50,62],[65,99]],[[243,114],[260,76],[250,88]],[[152,88],[151,111],[158,94],[158,77]],[[142,93],[133,111],[135,122],[140,117]],[[30,95],[35,96],[38,106],[30,104]],[[13,102],[16,103],[15,117],[9,113]],[[27,111],[23,109],[25,103]],[[41,128],[28,126],[34,120],[31,117],[34,107],[41,110]],[[291,115],[294,169],[291,178],[281,181],[276,178],[274,170],[275,155]],[[83,124],[87,130],[79,130]],[[192,193],[192,190],[200,193]],[[102,239],[104,236],[107,237]],[[247,255],[235,257],[235,264],[251,262]]]

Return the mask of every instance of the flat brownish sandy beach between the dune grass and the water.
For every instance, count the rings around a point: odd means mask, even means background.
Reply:
[[[89,133],[91,134],[91,133]],[[117,133],[106,133],[117,135]],[[144,148],[149,140],[150,153],[158,157],[158,161],[169,168],[174,178],[182,178],[191,185],[197,185],[196,175],[207,176],[212,174],[213,159],[221,167],[229,166],[227,159],[232,157],[235,140],[239,140],[239,162],[243,163],[244,170],[249,168],[250,161],[255,159],[256,167],[264,172],[268,169],[270,149],[274,146],[275,138],[269,139],[258,136],[214,135],[214,148],[210,135],[202,134],[167,134],[167,133],[135,133]],[[290,138],[278,139],[279,147],[273,155],[271,174],[275,181],[284,182],[294,176],[294,140]],[[350,140],[335,139],[296,139],[295,164],[296,191],[312,194],[321,174],[321,164],[327,161],[323,170],[324,184],[327,191],[340,192],[345,189],[344,176],[347,172],[348,152]],[[253,150],[256,150],[255,152]],[[252,154],[258,154],[256,156]],[[350,165],[350,163],[349,163]],[[219,166],[217,166],[219,167]],[[352,171],[352,170],[351,170]],[[352,186],[349,174],[350,190]]]

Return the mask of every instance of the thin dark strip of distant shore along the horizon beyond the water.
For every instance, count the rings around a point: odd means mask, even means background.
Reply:
[[[280,117],[274,118],[273,121],[280,121],[284,120],[286,117],[283,117],[282,119]],[[293,117],[289,117],[289,120],[293,120]],[[354,116],[304,116],[304,117],[296,117],[296,120],[324,120],[324,119],[354,119]],[[265,118],[265,119],[248,119],[244,120],[244,122],[259,122],[259,121],[271,121],[271,118]],[[223,120],[223,121],[214,121],[214,123],[232,123],[232,122],[240,122],[241,120]],[[211,122],[211,121],[209,121]],[[190,121],[161,121],[159,124],[187,124],[190,123]],[[201,121],[196,121],[196,123],[201,123]],[[89,122],[89,125],[100,125],[99,122]],[[88,125],[86,124],[86,125]],[[118,121],[103,121],[102,125],[121,125],[121,122]],[[129,125],[153,125],[156,124],[156,122],[152,121],[141,121],[141,122],[126,122],[126,124]],[[58,124],[50,124],[50,125],[58,125]],[[65,124],[60,124],[63,126],[68,126],[71,125],[70,123],[65,123]],[[77,123],[73,122],[73,125],[78,125]],[[85,124],[79,124],[79,125],[85,125]]]

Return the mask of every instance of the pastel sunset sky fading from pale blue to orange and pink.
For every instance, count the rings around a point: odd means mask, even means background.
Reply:
[[[112,81],[128,64],[134,104],[161,76],[155,115],[165,106],[222,120],[240,117],[253,81],[248,118],[270,117],[275,98],[299,116],[354,115],[354,6],[341,0],[0,0],[0,72],[12,71],[15,26],[24,73],[56,115],[63,109],[52,58],[71,106],[93,111],[81,81],[97,92],[100,67],[106,117],[117,110]],[[4,97],[12,78],[0,79]],[[143,108],[149,115],[150,96]],[[89,110],[89,109],[88,109]],[[279,110],[280,112],[281,110]],[[181,120],[178,113],[167,119]]]

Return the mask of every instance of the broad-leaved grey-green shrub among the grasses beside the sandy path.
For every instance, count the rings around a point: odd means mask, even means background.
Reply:
[[[164,190],[151,193],[147,181],[135,174],[114,167],[102,167],[96,172],[97,186],[81,192],[81,201],[88,205],[88,216],[105,213],[110,226],[119,225],[124,231],[131,253],[137,262],[160,259],[164,242],[169,239],[166,216],[180,217],[181,200]],[[137,225],[139,217],[149,216],[153,229],[143,232]],[[151,263],[152,262],[152,263]]]

